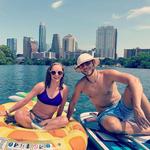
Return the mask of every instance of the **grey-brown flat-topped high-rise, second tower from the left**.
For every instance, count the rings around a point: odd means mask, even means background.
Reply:
[[[23,38],[23,56],[25,58],[31,58],[31,37]]]

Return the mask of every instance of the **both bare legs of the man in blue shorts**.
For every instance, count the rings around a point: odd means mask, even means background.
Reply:
[[[123,101],[124,105],[128,107],[129,109],[132,109],[132,94],[128,87],[125,90],[125,93],[123,95]],[[150,119],[150,103],[146,96],[143,94],[141,99],[141,108],[143,109],[145,116],[147,119]],[[135,123],[131,122],[123,122],[120,121],[117,117],[114,116],[106,116],[102,119],[100,122],[102,126],[110,131],[115,133],[128,133],[128,134],[134,134],[134,133],[145,133],[150,134],[150,128],[147,129],[141,129],[137,126]]]

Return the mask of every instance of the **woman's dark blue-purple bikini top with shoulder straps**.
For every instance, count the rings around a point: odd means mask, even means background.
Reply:
[[[40,102],[47,104],[47,105],[53,105],[53,106],[58,106],[62,102],[62,96],[59,91],[59,93],[55,96],[55,98],[49,98],[47,95],[46,89],[39,95],[37,95],[37,98],[39,99]]]

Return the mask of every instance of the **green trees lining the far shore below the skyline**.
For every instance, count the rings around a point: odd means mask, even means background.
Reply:
[[[71,66],[76,64],[76,59],[28,59],[26,58],[21,64],[24,65],[50,65],[53,62],[60,62],[66,66]],[[134,56],[131,58],[123,58],[120,57],[116,60],[105,58],[100,60],[101,66],[118,66],[118,67],[126,67],[126,68],[146,68],[150,69],[150,54],[142,53],[138,56]],[[0,46],[0,65],[6,64],[16,64],[16,57],[13,56],[10,49],[5,46]]]

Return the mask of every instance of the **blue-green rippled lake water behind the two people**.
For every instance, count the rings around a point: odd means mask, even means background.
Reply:
[[[19,91],[30,91],[32,87],[45,79],[48,66],[28,66],[28,65],[0,65],[0,103],[9,102],[8,96],[14,95]],[[98,68],[100,69],[100,68]],[[116,70],[131,73],[140,78],[144,92],[150,99],[150,69],[127,69],[114,68]],[[76,82],[82,77],[82,74],[76,73],[73,67],[65,67],[65,83],[69,87],[69,98],[73,93]],[[125,86],[118,84],[119,90],[123,92]],[[78,120],[79,114],[85,111],[95,111],[92,103],[84,94],[81,95],[77,105],[77,111],[74,117]],[[92,146],[91,146],[92,147]],[[88,149],[92,149],[90,146]]]

